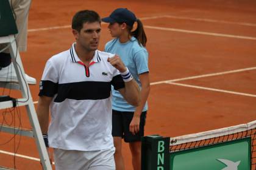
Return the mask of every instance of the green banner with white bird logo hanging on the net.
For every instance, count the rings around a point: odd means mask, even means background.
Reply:
[[[170,154],[171,170],[250,170],[251,137]]]

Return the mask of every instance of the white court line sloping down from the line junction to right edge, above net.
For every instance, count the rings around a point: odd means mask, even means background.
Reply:
[[[222,93],[227,93],[227,94],[243,95],[243,96],[247,96],[247,97],[256,97],[256,95],[253,95],[253,94],[244,94],[244,93],[240,93],[240,92],[233,92],[233,91],[221,90],[221,89],[213,89],[213,88],[202,87],[202,86],[193,86],[193,85],[189,85],[189,84],[182,84],[182,83],[168,83],[168,84],[184,86],[184,87],[192,87],[192,88],[196,88],[196,89],[211,90],[211,91],[222,92]]]

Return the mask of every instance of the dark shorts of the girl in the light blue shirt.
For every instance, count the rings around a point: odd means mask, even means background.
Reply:
[[[122,137],[125,142],[140,141],[144,136],[144,126],[146,123],[147,112],[142,112],[140,115],[140,132],[133,135],[129,131],[130,121],[133,118],[133,112],[119,112],[112,110],[112,136]]]

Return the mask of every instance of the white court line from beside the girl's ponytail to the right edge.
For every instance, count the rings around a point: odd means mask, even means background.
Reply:
[[[172,32],[194,33],[194,34],[201,34],[201,35],[211,35],[211,36],[222,36],[222,37],[228,37],[228,38],[256,40],[256,37],[252,37],[252,36],[230,35],[230,34],[213,33],[213,32],[199,32],[199,31],[193,31],[193,30],[183,30],[183,29],[174,29],[174,28],[166,28],[166,27],[154,27],[154,26],[150,26],[150,25],[144,25],[144,27],[147,29],[165,30],[165,31],[172,31]]]

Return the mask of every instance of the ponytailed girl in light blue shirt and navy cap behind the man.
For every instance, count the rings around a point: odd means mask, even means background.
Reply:
[[[133,107],[112,89],[112,135],[115,144],[116,169],[124,169],[124,159],[121,153],[122,138],[129,143],[132,152],[133,169],[141,168],[141,137],[144,135],[146,112],[148,110],[147,99],[150,91],[148,52],[146,50],[146,34],[142,22],[127,9],[116,9],[109,17],[102,18],[108,22],[108,30],[113,38],[105,45],[105,52],[116,53],[130,70],[123,78],[129,80],[131,76],[139,84],[141,91],[141,103]],[[133,30],[133,24],[137,23],[137,29]]]

